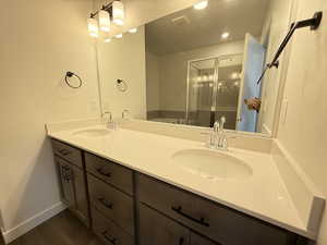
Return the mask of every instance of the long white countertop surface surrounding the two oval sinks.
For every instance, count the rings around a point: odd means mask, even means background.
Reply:
[[[75,131],[48,134],[261,220],[310,238],[313,236],[300,219],[277,166],[268,154],[230,148],[226,154],[245,161],[252,168],[253,175],[240,180],[211,181],[183,171],[171,160],[171,156],[179,150],[207,149],[204,143],[123,128],[100,137],[73,135]]]

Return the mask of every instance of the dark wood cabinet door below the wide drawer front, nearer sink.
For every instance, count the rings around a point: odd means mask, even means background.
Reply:
[[[140,245],[189,245],[190,231],[159,212],[140,205]]]

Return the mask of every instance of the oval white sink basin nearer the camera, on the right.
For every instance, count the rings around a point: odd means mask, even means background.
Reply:
[[[252,168],[242,160],[206,149],[180,150],[171,159],[182,170],[210,181],[246,179],[253,173]]]

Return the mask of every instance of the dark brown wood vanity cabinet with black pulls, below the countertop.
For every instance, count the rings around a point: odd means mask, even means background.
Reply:
[[[108,245],[305,245],[307,240],[52,140],[62,199]],[[301,241],[301,242],[300,242]]]

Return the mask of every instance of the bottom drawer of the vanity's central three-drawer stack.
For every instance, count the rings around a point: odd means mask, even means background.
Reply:
[[[134,245],[134,237],[92,209],[93,231],[107,245]]]

